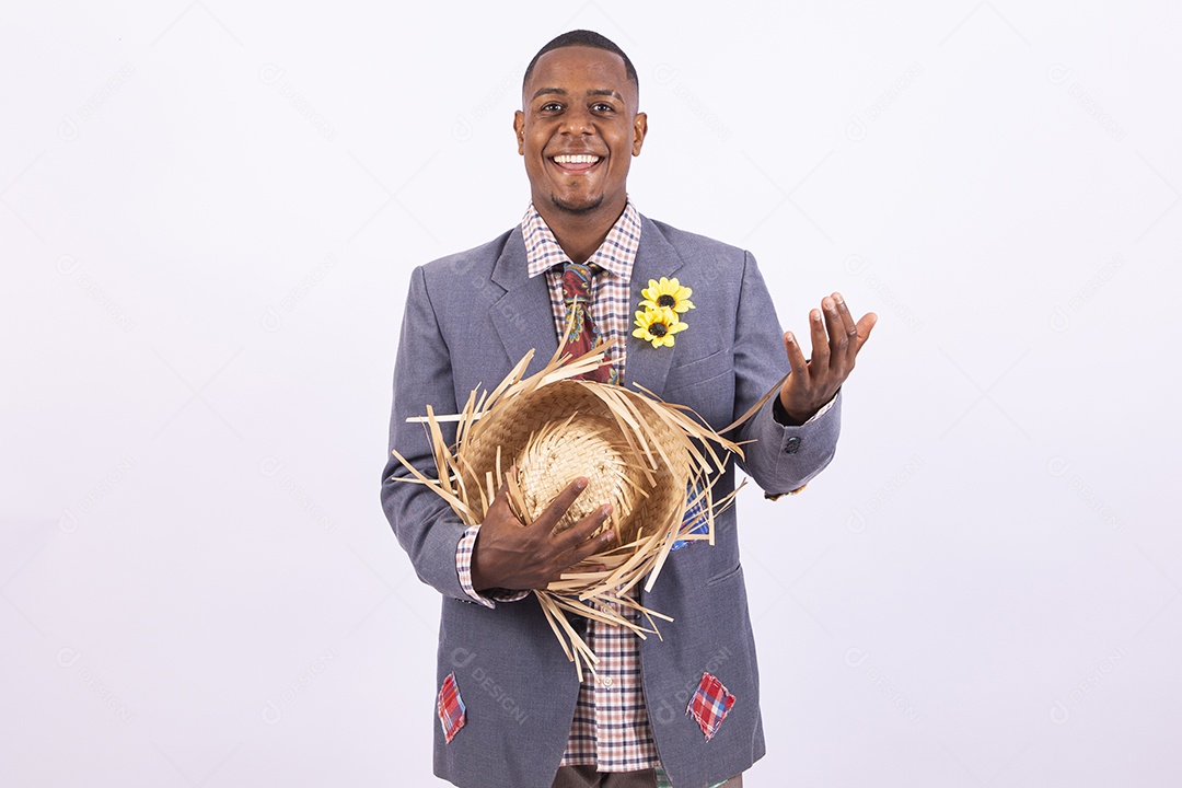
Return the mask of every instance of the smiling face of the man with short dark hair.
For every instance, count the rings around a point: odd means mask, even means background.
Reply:
[[[513,126],[538,210],[618,215],[631,157],[648,131],[623,58],[586,46],[546,52],[521,100]]]

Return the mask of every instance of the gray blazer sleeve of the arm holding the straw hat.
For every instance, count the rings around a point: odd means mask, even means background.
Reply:
[[[428,478],[436,476],[435,460],[422,424],[407,423],[423,416],[427,405],[436,413],[455,413],[455,383],[447,341],[440,331],[423,268],[410,276],[410,292],[402,318],[402,334],[394,366],[394,406],[390,413],[390,449],[398,452]],[[442,425],[444,438],[455,438],[455,428]],[[413,481],[392,454],[382,474],[382,508],[398,543],[407,551],[415,573],[440,593],[470,601],[456,572],[456,548],[467,526],[443,499]]]

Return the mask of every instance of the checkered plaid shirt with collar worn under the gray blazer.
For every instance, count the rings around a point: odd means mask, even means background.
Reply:
[[[563,263],[569,261],[554,234],[533,204],[521,220],[530,276],[546,275],[554,331],[561,337],[566,317],[563,302]],[[631,201],[612,226],[603,243],[586,263],[602,271],[591,285],[591,320],[600,339],[618,344],[608,357],[624,379],[625,340],[632,326],[629,304],[632,263],[641,242],[641,215]],[[460,584],[473,601],[488,607],[498,601],[515,601],[528,592],[512,592],[485,598],[472,587],[472,551],[480,526],[470,527],[456,547],[456,571]],[[631,620],[639,614],[619,611]],[[622,627],[589,620],[584,639],[599,657],[598,678],[584,673],[574,719],[560,766],[595,766],[599,771],[637,771],[658,766],[652,729],[641,690],[641,647],[636,636]]]

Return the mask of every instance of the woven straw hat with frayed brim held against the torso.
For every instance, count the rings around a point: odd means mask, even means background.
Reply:
[[[729,454],[742,456],[738,444],[691,418],[682,405],[573,379],[605,364],[606,346],[576,359],[556,353],[543,370],[522,378],[531,351],[492,393],[478,398],[473,391],[463,412],[437,416],[428,406],[426,417],[409,419],[427,426],[436,478],[394,451],[414,476],[403,481],[435,490],[469,526],[483,522],[502,484],[514,515],[533,522],[572,480],[586,477],[587,488],[559,521],[559,530],[603,503],[612,504],[604,528],[616,530],[616,546],[533,590],[580,678],[583,665],[593,672],[598,658],[564,613],[624,626],[641,638],[645,632],[660,637],[654,618],[673,619],[639,605],[634,590],[645,575],[645,591],[652,588],[677,540],[714,543],[714,516],[734,496],[714,500],[714,474],[722,473]],[[457,422],[454,447],[443,438],[443,422]],[[515,474],[508,473],[511,467]],[[701,516],[684,522],[695,506]],[[624,618],[623,607],[638,611],[651,629]]]

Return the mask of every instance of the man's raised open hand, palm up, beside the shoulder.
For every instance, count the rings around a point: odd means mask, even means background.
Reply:
[[[824,323],[821,318],[824,317]],[[808,313],[812,358],[805,360],[800,344],[790,331],[784,334],[792,375],[780,386],[780,405],[797,424],[804,424],[833,398],[853,371],[858,351],[870,338],[878,315],[868,312],[857,323],[845,299],[833,293],[821,299],[820,308]]]

